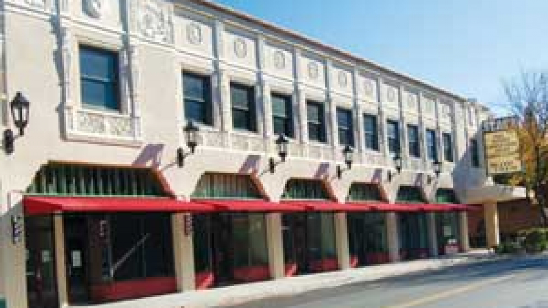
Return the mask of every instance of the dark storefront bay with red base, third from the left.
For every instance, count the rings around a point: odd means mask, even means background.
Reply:
[[[333,213],[282,215],[286,276],[338,269]]]

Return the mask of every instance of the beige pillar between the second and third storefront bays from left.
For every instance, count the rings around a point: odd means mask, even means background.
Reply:
[[[268,213],[265,214],[265,219],[270,276],[283,278],[286,276],[286,271],[283,260],[282,214]]]

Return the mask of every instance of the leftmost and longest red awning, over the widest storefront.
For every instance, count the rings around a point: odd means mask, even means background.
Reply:
[[[214,206],[153,197],[49,197],[26,196],[28,215],[59,212],[212,212]]]

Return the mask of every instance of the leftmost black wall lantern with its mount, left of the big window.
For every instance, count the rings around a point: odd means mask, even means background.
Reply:
[[[15,127],[19,130],[19,136],[25,134],[25,128],[28,125],[28,115],[30,111],[30,102],[21,92],[17,92],[9,107],[12,112],[12,119]],[[15,152],[15,134],[12,130],[4,130],[2,134],[2,146],[5,154],[13,154]]]

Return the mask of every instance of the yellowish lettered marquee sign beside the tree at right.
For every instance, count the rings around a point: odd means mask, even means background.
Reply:
[[[487,174],[502,175],[522,171],[520,140],[513,129],[514,118],[500,118],[484,123]]]

